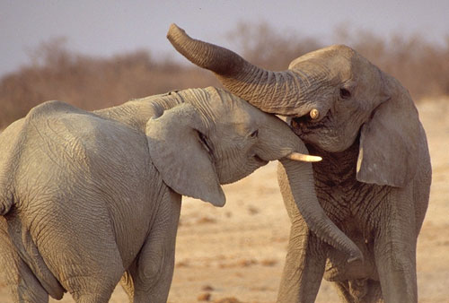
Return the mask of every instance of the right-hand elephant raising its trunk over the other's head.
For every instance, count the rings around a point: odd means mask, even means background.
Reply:
[[[280,166],[292,227],[277,300],[313,302],[324,276],[344,302],[417,302],[416,244],[431,166],[418,111],[401,83],[346,46],[322,48],[295,59],[285,72],[270,72],[190,39],[175,25],[168,38],[229,91],[289,117],[309,152],[323,158],[313,164],[318,199],[357,244],[352,255],[363,258],[348,263],[344,249],[326,244],[321,222],[307,220],[295,206],[296,176]]]

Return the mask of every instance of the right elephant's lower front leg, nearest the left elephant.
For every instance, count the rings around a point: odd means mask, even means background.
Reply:
[[[326,264],[326,249],[302,218],[293,222],[277,302],[315,301]]]

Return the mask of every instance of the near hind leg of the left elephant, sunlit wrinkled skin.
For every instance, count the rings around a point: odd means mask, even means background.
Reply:
[[[36,237],[45,245],[38,248],[75,302],[106,303],[125,268],[109,210],[97,200],[85,201],[89,202],[74,199],[73,207],[64,208],[64,220],[61,215],[55,217],[57,220],[47,220],[40,237]]]

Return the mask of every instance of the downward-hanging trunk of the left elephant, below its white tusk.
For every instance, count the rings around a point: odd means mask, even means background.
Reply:
[[[330,246],[347,253],[348,262],[363,262],[362,252],[357,245],[330,221],[321,208],[314,190],[312,164],[288,159],[282,159],[280,162],[288,180],[288,185],[281,186],[290,187],[293,200],[309,229]]]

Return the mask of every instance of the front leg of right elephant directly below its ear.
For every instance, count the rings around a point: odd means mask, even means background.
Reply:
[[[405,191],[405,190],[404,190]],[[374,258],[387,303],[418,302],[416,274],[416,222],[413,203],[403,192],[384,201]]]

